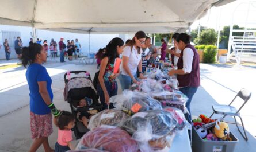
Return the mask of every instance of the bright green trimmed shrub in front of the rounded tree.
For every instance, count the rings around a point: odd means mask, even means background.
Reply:
[[[204,63],[214,63],[217,54],[217,46],[207,45],[204,49]]]

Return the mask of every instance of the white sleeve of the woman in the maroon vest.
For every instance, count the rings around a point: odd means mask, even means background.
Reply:
[[[183,71],[185,73],[190,73],[192,70],[194,52],[190,48],[185,48],[183,50]]]

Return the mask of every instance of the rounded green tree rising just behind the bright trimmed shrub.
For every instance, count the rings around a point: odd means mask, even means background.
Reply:
[[[200,36],[195,38],[194,43],[200,45],[215,45],[217,41],[217,33],[214,29],[205,29]]]

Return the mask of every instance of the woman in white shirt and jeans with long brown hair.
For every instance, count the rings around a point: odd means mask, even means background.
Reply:
[[[137,83],[136,72],[139,69],[140,79],[144,79],[142,74],[142,48],[145,42],[146,34],[139,31],[135,34],[131,41],[125,45],[122,54],[122,68],[119,80],[122,90],[129,89],[132,83]]]

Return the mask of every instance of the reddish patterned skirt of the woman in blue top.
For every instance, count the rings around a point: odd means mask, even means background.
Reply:
[[[52,114],[37,115],[30,111],[30,128],[32,139],[49,137],[52,134]]]

